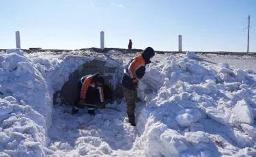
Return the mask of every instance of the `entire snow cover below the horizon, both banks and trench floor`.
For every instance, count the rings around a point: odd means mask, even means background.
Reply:
[[[134,55],[0,52],[0,156],[256,156],[251,56],[156,55],[140,83],[137,127],[124,100],[111,105],[122,112],[94,117],[53,106],[83,63]]]

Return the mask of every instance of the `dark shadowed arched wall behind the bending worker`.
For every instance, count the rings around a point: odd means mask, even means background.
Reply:
[[[63,84],[61,90],[54,94],[55,102],[59,94],[61,104],[73,105],[76,99],[76,88],[79,79],[85,75],[95,74],[96,72],[104,76],[105,84],[113,91],[114,98],[122,99],[124,97],[122,85],[119,85],[124,72],[122,63],[110,61],[109,59],[94,59],[83,64],[83,66],[79,66],[72,72],[72,74],[70,74],[68,81]],[[106,97],[108,96],[105,96],[105,98]]]

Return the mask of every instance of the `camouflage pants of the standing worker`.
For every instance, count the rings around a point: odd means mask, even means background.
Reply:
[[[130,90],[123,86],[124,97],[126,98],[127,114],[134,115],[135,113],[135,102],[137,100],[137,90]]]

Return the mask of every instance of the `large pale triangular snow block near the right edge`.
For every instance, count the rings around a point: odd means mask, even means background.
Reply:
[[[245,100],[238,101],[232,109],[229,122],[231,124],[253,124],[254,115],[251,106]]]

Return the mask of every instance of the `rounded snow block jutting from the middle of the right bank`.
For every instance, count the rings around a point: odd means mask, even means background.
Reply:
[[[201,118],[201,113],[197,109],[183,109],[177,113],[176,121],[177,123],[184,127],[190,126],[191,124],[197,122]]]

